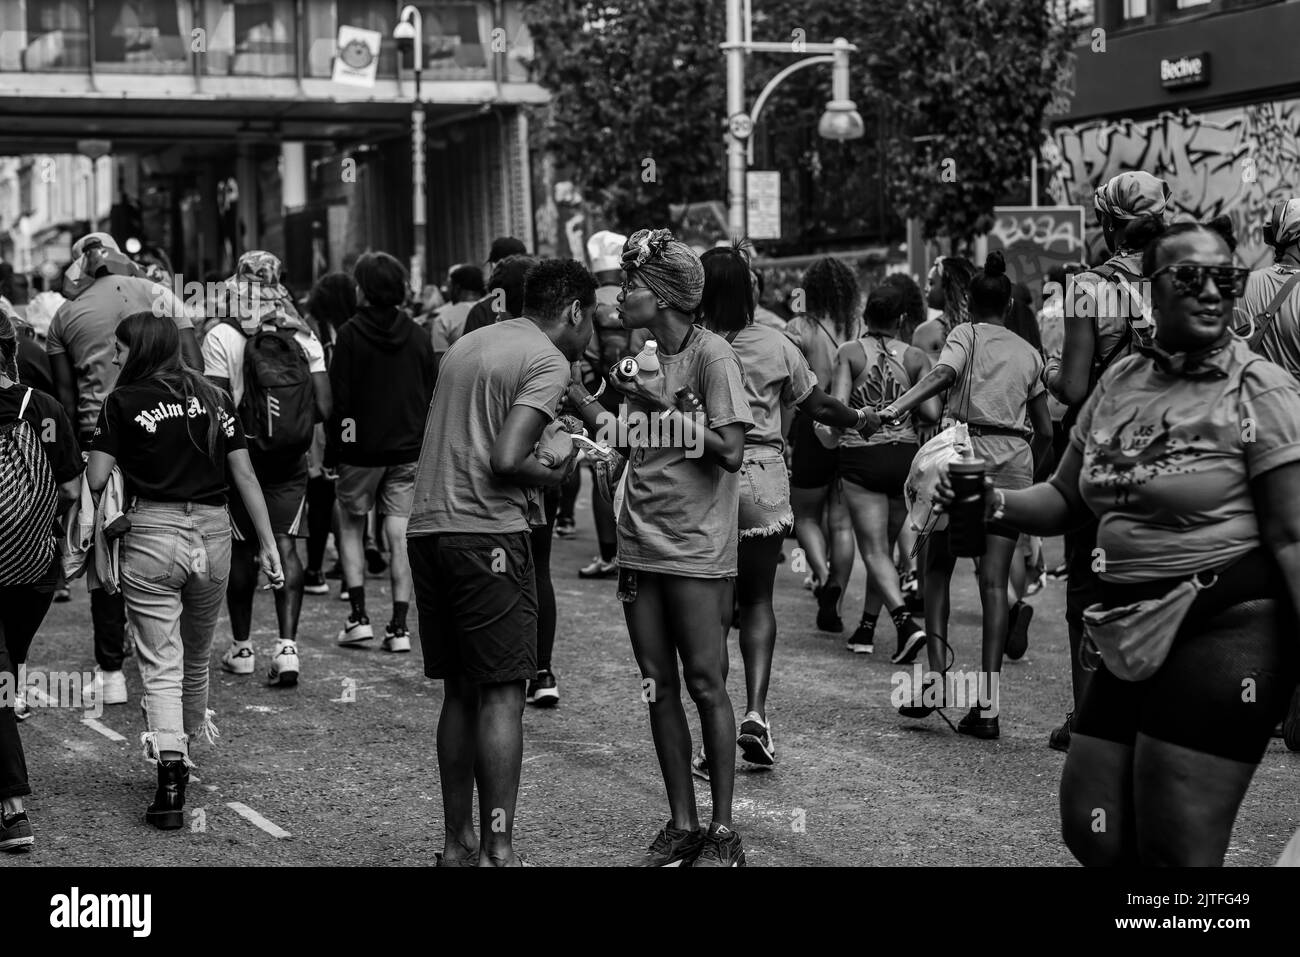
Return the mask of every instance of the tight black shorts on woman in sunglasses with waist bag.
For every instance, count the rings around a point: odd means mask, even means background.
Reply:
[[[1106,607],[1167,594],[1175,580],[1101,583]],[[1300,680],[1296,615],[1282,570],[1262,549],[1196,596],[1165,663],[1145,681],[1098,666],[1074,729],[1132,746],[1141,732],[1169,744],[1257,765]]]

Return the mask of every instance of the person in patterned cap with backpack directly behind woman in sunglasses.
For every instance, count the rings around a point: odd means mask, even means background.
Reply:
[[[1147,339],[1140,328],[1144,324],[1140,293],[1130,293],[1143,287],[1141,251],[1164,229],[1169,199],[1169,183],[1141,170],[1119,173],[1093,194],[1097,222],[1110,257],[1100,267],[1072,276],[1066,285],[1065,341],[1060,358],[1049,358],[1044,372],[1050,394],[1069,407],[1061,419],[1066,434],[1101,373]],[[1065,537],[1066,624],[1075,703],[1083,700],[1088,679],[1079,661],[1083,610],[1100,601],[1097,573],[1092,570],[1096,541],[1096,521]],[[1065,723],[1052,732],[1052,748],[1070,748],[1072,714],[1071,709]]]

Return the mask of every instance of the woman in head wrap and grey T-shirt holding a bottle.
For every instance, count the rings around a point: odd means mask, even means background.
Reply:
[[[642,229],[624,246],[623,272],[623,325],[650,330],[660,365],[628,384],[611,378],[629,407],[630,449],[618,514],[619,597],[647,689],[644,697],[672,813],[645,863],[733,867],[744,865],[745,853],[731,817],[736,716],[724,680],[723,622],[731,620],[737,472],[753,417],[732,347],[692,324],[705,269],[690,247],[668,230]],[[702,413],[679,410],[677,393],[688,387],[702,402]],[[601,410],[580,384],[569,398],[598,434],[616,428],[614,413]],[[707,831],[701,831],[696,810],[682,683],[699,710],[708,759]]]

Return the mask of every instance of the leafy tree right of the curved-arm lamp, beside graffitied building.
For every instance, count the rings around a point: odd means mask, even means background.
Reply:
[[[898,135],[893,202],[927,238],[968,242],[1015,194],[1044,138],[1044,109],[1074,43],[1060,0],[909,0],[866,59]]]

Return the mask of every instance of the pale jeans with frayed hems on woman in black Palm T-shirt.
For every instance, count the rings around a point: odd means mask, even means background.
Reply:
[[[144,753],[179,752],[216,728],[208,711],[208,657],[230,576],[224,506],[136,499],[121,544],[126,616],[144,684]]]

